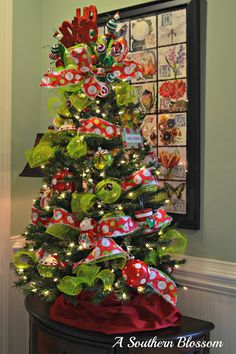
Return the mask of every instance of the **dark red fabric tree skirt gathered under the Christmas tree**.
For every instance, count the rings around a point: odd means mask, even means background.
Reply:
[[[115,296],[108,296],[101,304],[91,302],[91,294],[78,296],[74,306],[59,296],[50,309],[50,318],[56,322],[85,330],[113,333],[151,331],[175,327],[180,323],[180,312],[161,296],[133,295],[121,303]]]

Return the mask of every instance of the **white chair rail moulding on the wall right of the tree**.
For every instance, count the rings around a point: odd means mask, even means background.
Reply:
[[[223,295],[236,296],[236,263],[185,256],[186,264],[175,272],[183,285]]]

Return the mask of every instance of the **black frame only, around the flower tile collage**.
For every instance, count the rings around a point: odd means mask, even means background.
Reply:
[[[98,16],[98,26],[105,26],[109,16],[117,11],[122,21],[156,15],[167,11],[186,8],[187,21],[187,176],[186,176],[186,214],[169,213],[178,227],[200,228],[200,128],[201,128],[201,64],[200,40],[203,39],[201,20],[204,0],[157,0],[122,9],[114,9]]]

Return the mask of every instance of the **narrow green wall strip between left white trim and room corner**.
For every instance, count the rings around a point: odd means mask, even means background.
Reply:
[[[19,177],[25,165],[24,151],[33,146],[40,131],[41,2],[13,1],[12,82],[12,235],[29,223],[32,197],[38,179]]]

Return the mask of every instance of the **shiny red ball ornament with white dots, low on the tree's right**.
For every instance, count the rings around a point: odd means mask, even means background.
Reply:
[[[149,268],[143,261],[131,259],[122,269],[122,275],[129,286],[138,288],[147,283],[149,279]]]

